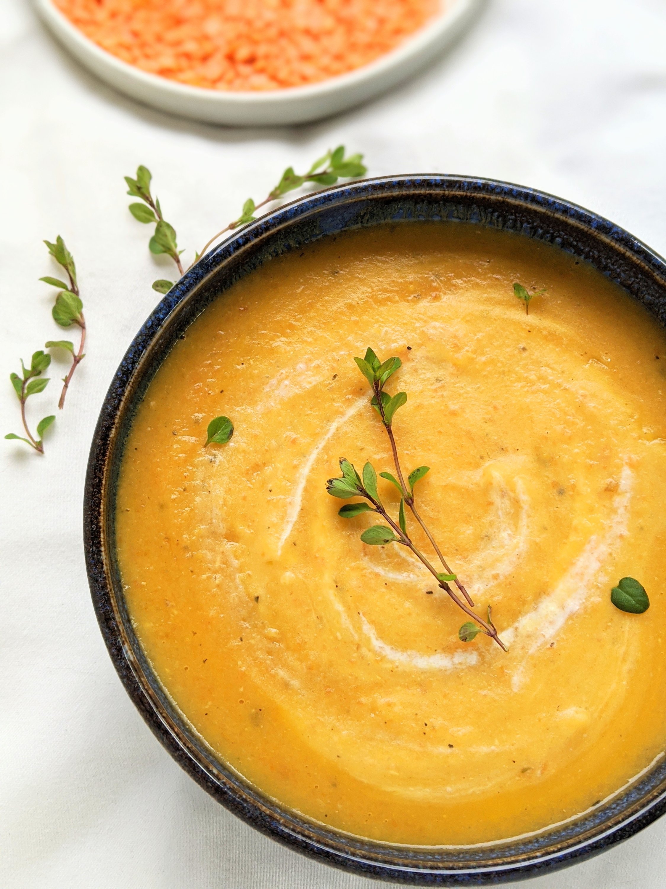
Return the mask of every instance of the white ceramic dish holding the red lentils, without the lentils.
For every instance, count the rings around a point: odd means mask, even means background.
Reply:
[[[381,2],[381,0],[377,0]],[[336,114],[390,89],[432,61],[461,34],[482,0],[442,0],[442,12],[403,44],[348,74],[311,86],[239,92],[206,90],[148,74],[101,49],[67,19],[52,0],[35,0],[53,34],[86,68],[107,84],[181,117],[209,124],[301,124]]]

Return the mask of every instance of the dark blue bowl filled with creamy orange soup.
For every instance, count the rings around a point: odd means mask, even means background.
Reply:
[[[99,626],[170,755],[410,885],[535,876],[661,815],[665,321],[645,244],[490,180],[330,188],[204,256],[115,374],[85,495]],[[329,496],[340,459],[377,501]]]

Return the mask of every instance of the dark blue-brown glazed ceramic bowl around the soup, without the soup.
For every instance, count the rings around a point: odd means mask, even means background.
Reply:
[[[158,739],[222,805],[297,852],[366,877],[410,885],[488,885],[532,877],[597,854],[666,809],[666,761],[610,802],[527,839],[476,848],[409,847],[350,837],[281,808],[211,756],[172,707],[131,628],[115,554],[115,492],[132,418],[148,383],[211,300],[262,263],[321,237],[407,220],[456,220],[556,244],[599,268],[666,324],[666,264],[622,228],[529,188],[457,176],[355,182],[269,214],[200,260],[132,342],[108,390],[91,447],[85,551],[92,601],[111,659]]]

